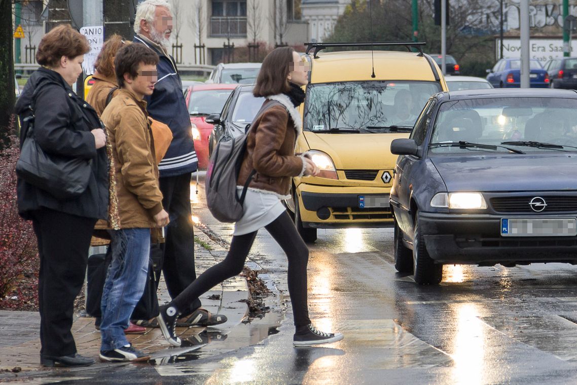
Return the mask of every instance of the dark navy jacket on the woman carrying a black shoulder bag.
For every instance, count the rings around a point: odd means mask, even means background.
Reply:
[[[53,70],[39,68],[24,86],[16,103],[16,113],[23,117],[29,114],[28,106],[36,88],[40,91],[35,100],[33,134],[45,152],[92,159],[92,177],[88,187],[80,196],[69,200],[58,200],[50,192],[39,189],[20,178],[17,181],[18,212],[31,219],[31,212],[42,207],[84,216],[106,219],[108,215],[108,162],[106,148],[96,149],[92,129],[101,128],[96,111],[78,97]],[[22,141],[27,125],[20,133]]]

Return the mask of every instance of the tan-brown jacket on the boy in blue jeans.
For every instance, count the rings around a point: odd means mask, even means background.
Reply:
[[[121,229],[156,227],[162,193],[146,102],[121,88],[102,113],[113,148]]]

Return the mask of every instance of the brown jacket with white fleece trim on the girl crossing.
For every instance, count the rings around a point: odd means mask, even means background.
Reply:
[[[285,95],[280,95],[280,98],[283,96],[290,103]],[[280,198],[288,197],[291,177],[302,175],[304,170],[303,159],[294,155],[297,135],[301,129],[300,119],[295,116],[298,112],[292,104],[287,105],[284,98],[278,100],[282,101],[283,105],[270,107],[253,122],[246,139],[246,152],[237,179],[239,186],[245,185],[254,169],[256,174],[249,184],[249,189],[275,193]],[[265,103],[271,101],[267,100]],[[293,111],[289,112],[289,109]],[[298,119],[297,124],[293,117]]]

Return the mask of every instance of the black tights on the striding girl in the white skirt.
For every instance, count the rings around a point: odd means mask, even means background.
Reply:
[[[309,261],[309,249],[299,236],[294,223],[285,211],[273,220],[265,229],[283,249],[288,258],[288,294],[293,305],[296,327],[310,323],[306,292],[306,265]],[[246,256],[254,242],[257,231],[242,236],[234,236],[226,258],[199,275],[182,291],[171,305],[179,311],[187,309],[190,302],[215,285],[242,272]]]

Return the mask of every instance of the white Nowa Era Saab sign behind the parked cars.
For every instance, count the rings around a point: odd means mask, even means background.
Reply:
[[[495,39],[496,57],[500,57],[501,41]],[[571,40],[571,53],[577,52],[577,39]],[[569,53],[569,55],[571,55]],[[531,38],[529,40],[529,55],[544,64],[549,59],[563,57],[563,39]],[[503,57],[520,58],[521,40],[516,38],[503,39]]]

